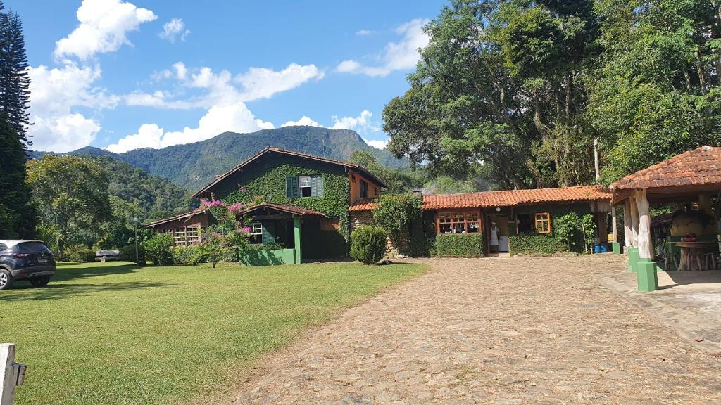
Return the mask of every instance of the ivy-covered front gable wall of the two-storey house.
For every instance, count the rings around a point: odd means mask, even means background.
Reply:
[[[323,177],[322,197],[287,197],[286,178],[297,176]],[[249,196],[261,195],[268,203],[292,204],[337,219],[339,231],[319,231],[316,229],[317,223],[308,223],[309,226],[303,227],[304,257],[314,258],[322,251],[316,248],[317,244],[322,245],[321,241],[314,239],[321,236],[329,239],[330,246],[334,247],[331,249],[333,252],[330,252],[332,256],[337,256],[341,250],[344,255],[348,252],[349,184],[348,173],[342,166],[298,156],[266,153],[241,171],[231,174],[224,182],[216,184],[211,192],[216,200],[223,200],[228,204],[247,203]],[[241,192],[240,187],[246,187],[247,192]],[[339,237],[345,241],[343,246],[339,246]],[[309,254],[306,254],[306,251]]]

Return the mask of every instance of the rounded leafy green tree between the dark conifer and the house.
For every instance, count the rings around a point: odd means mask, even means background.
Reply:
[[[27,163],[27,184],[42,223],[57,226],[61,253],[68,244],[93,244],[111,218],[107,177],[97,161],[48,154]]]

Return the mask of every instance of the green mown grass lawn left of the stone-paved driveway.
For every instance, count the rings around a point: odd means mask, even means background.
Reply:
[[[417,264],[61,264],[0,291],[0,342],[27,364],[17,404],[167,404],[224,393],[253,360]]]

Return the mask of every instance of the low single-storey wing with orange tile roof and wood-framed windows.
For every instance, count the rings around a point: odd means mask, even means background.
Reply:
[[[351,223],[372,223],[371,210],[375,207],[371,199],[356,200],[349,208]],[[548,236],[549,244],[554,243],[554,221],[571,212],[579,216],[593,214],[605,241],[610,211],[611,194],[601,186],[423,195],[423,228],[428,239],[481,233],[483,251],[477,252],[481,256],[490,253],[490,227],[495,224],[498,250],[514,254],[528,252],[525,246],[521,249],[525,236]],[[539,240],[544,241],[541,238],[534,243]]]

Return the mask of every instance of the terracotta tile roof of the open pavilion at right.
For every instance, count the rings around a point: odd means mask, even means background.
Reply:
[[[721,184],[721,148],[702,146],[630,174],[611,190]]]

